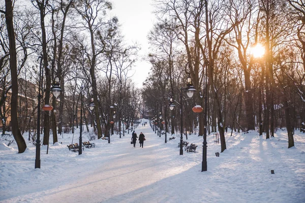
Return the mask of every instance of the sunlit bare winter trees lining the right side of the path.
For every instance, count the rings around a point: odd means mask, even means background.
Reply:
[[[166,112],[165,128],[174,133],[182,122],[185,133],[202,136],[204,113],[192,112],[200,105],[207,110],[207,133],[219,130],[222,152],[226,127],[257,129],[266,139],[285,127],[293,147],[294,129],[305,131],[305,2],[156,0],[154,6],[152,68],[142,97],[157,119]],[[189,75],[197,92],[178,104]],[[173,111],[169,97],[176,101]]]

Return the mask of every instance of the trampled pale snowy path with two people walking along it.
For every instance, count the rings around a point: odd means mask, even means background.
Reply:
[[[91,175],[78,178],[71,185],[64,185],[45,193],[37,202],[55,202],[71,200],[73,202],[142,202],[147,196],[154,196],[154,187],[158,181],[170,176],[174,163],[168,162],[169,155],[163,153],[164,140],[157,137],[149,126],[138,127],[137,134],[142,131],[146,137],[144,148],[136,148],[130,144],[130,135],[116,140],[111,147],[95,154],[95,170]],[[115,151],[119,150],[119,153]],[[114,153],[113,153],[114,152]],[[103,156],[103,158],[99,158]],[[105,159],[107,158],[107,159]],[[178,166],[177,170],[182,170]],[[156,199],[162,202],[162,199]]]

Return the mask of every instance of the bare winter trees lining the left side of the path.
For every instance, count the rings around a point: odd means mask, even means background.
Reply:
[[[112,127],[121,129],[125,122],[127,129],[137,119],[141,103],[130,77],[139,47],[125,43],[111,9],[105,0],[5,0],[0,5],[0,117],[3,133],[11,117],[19,153],[26,149],[22,133],[32,129],[35,135],[37,129],[40,72],[41,104],[53,107],[41,111],[43,145],[50,133],[55,143],[62,129],[74,130],[80,122],[87,130],[91,123],[101,139],[113,133]],[[50,92],[56,77],[63,90],[57,98]],[[35,144],[35,136],[32,140]]]

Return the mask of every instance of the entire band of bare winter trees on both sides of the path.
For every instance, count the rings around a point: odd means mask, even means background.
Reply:
[[[119,19],[108,15],[110,2],[5,0],[5,5],[0,5],[3,125],[10,109],[12,133],[22,153],[26,144],[21,133],[36,125],[37,103],[32,105],[24,93],[21,98],[18,88],[27,86],[18,81],[38,84],[41,69],[42,104],[56,110],[41,114],[43,145],[48,144],[50,131],[55,143],[63,125],[77,125],[80,108],[87,112],[85,123],[93,123],[98,139],[109,136],[110,107],[116,104],[119,129],[123,115],[128,128],[136,111],[156,116],[161,112],[168,124],[165,129],[171,133],[179,131],[181,122],[184,131],[199,136],[205,125],[208,134],[219,130],[222,151],[226,149],[226,126],[245,132],[258,129],[267,139],[277,128],[286,127],[290,148],[294,146],[294,129],[299,125],[305,129],[304,3],[155,0],[157,21],[148,34],[151,71],[139,99],[129,78],[139,47],[125,44]],[[257,45],[264,47],[260,57],[253,52]],[[179,89],[186,86],[188,76],[197,91],[191,99],[184,94],[180,104]],[[63,90],[57,99],[50,93],[56,77]],[[80,107],[81,86],[84,103],[93,98],[92,112],[86,105]],[[8,97],[10,104],[6,104]],[[169,97],[177,106],[173,111],[168,108]],[[21,100],[28,105],[24,110]],[[207,123],[204,113],[192,112],[195,105],[204,108]]]

